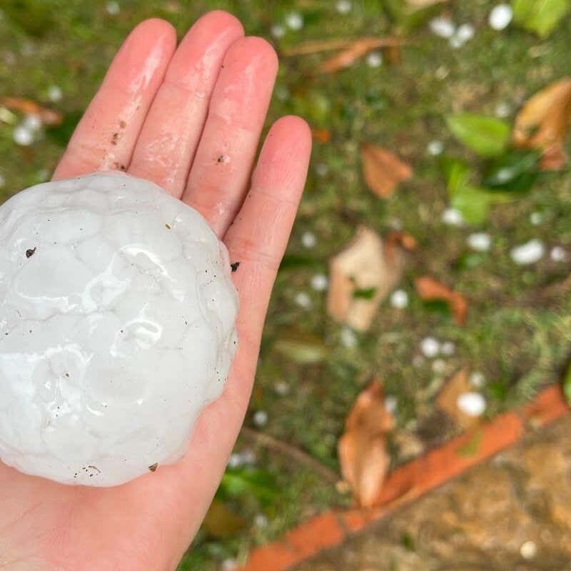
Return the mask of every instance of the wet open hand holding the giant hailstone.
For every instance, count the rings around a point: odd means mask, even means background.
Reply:
[[[1,570],[173,570],[198,530],[246,413],[308,168],[308,127],[283,117],[251,176],[277,68],[271,46],[243,37],[221,11],[199,19],[178,49],[170,24],[144,21],[113,60],[54,178],[118,168],[198,209],[240,262],[240,345],[223,395],[203,411],[176,465],[90,488],[0,463]]]

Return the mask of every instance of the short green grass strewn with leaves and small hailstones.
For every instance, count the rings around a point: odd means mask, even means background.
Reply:
[[[101,81],[108,61],[131,27],[143,18],[169,19],[183,34],[207,9],[226,8],[240,17],[248,34],[271,38],[273,24],[289,11],[303,14],[300,31],[287,31],[273,40],[278,51],[305,39],[359,37],[393,33],[398,23],[383,3],[353,1],[341,16],[333,1],[193,1],[135,0],[119,2],[108,14],[106,2],[80,0],[8,0],[0,19],[0,85],[4,94],[47,101],[49,86],[64,92],[59,103],[64,126],[46,131],[30,148],[16,146],[13,126],[0,123],[0,174],[4,196],[49,178],[71,129]],[[323,56],[283,58],[268,123],[285,113],[299,113],[313,127],[331,133],[328,143],[315,143],[308,184],[288,247],[288,265],[278,276],[263,335],[256,388],[246,423],[253,413],[266,411],[263,432],[273,435],[338,470],[336,442],[355,395],[371,376],[383,379],[385,391],[398,400],[397,433],[410,435],[423,446],[448,438],[453,423],[435,409],[435,395],[445,378],[461,366],[481,371],[493,415],[557,379],[571,338],[569,296],[550,293],[550,285],[570,273],[570,263],[545,256],[522,268],[510,259],[510,248],[540,238],[547,248],[563,246],[571,253],[571,176],[543,176],[530,193],[495,206],[479,228],[453,228],[441,221],[446,206],[445,181],[438,160],[429,156],[430,141],[442,141],[445,153],[474,157],[455,142],[445,126],[448,113],[473,111],[493,116],[498,105],[510,117],[525,98],[564,76],[571,66],[566,19],[547,41],[510,27],[500,33],[486,24],[493,3],[455,1],[448,11],[459,23],[470,22],[476,35],[453,50],[419,26],[407,34],[400,64],[372,69],[363,61],[332,76],[315,76]],[[38,26],[48,21],[50,26]],[[365,189],[360,175],[359,143],[392,148],[410,162],[415,176],[388,201]],[[474,163],[475,164],[475,163]],[[476,167],[475,167],[476,168]],[[534,226],[530,215],[540,213]],[[400,287],[410,298],[398,310],[383,303],[373,328],[355,334],[353,347],[343,344],[343,326],[325,313],[325,293],[314,291],[310,279],[326,272],[330,256],[343,248],[357,224],[385,233],[402,226],[418,241]],[[470,231],[492,236],[488,253],[466,246]],[[305,248],[301,237],[310,231],[317,242]],[[470,303],[468,322],[460,328],[440,305],[427,305],[415,296],[413,279],[430,274],[464,292]],[[300,291],[310,295],[310,310],[295,303]],[[455,343],[455,353],[439,363],[420,359],[418,345],[427,335]],[[294,338],[316,347],[325,358],[302,365],[276,350],[276,341]],[[285,392],[287,390],[287,392]],[[284,394],[285,393],[285,394]],[[237,450],[252,448],[241,439]],[[228,557],[243,557],[248,547],[271,540],[299,520],[328,505],[347,505],[348,497],[304,465],[255,448],[256,465],[267,476],[268,494],[256,487],[222,490],[224,501],[246,520],[242,532],[218,539],[202,530],[180,570],[214,570]],[[394,461],[405,450],[393,443]],[[239,476],[236,468],[236,474]],[[232,473],[232,470],[229,471]],[[256,515],[266,525],[253,525]],[[258,524],[263,523],[258,517]]]

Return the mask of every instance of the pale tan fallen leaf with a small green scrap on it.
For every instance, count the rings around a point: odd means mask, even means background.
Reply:
[[[333,319],[359,331],[370,327],[380,302],[403,273],[403,251],[393,246],[388,255],[387,249],[378,234],[361,226],[349,246],[331,258],[327,309]]]

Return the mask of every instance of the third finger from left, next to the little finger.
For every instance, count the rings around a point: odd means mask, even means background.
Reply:
[[[224,58],[183,201],[222,236],[248,187],[278,59],[261,38],[236,41]]]

